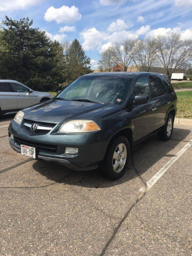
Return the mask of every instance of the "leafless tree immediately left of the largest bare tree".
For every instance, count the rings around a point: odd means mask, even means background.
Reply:
[[[133,62],[139,71],[149,72],[157,60],[155,40],[146,38],[135,42]]]

